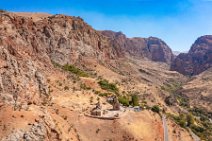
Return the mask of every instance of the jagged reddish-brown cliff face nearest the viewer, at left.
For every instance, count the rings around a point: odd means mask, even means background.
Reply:
[[[52,67],[52,61],[79,64],[92,58],[106,63],[118,56],[107,38],[80,18],[54,15],[35,21],[0,14],[0,92],[9,101],[24,91],[22,98],[48,97],[44,70]]]

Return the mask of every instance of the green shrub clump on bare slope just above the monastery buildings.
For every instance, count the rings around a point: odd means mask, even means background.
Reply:
[[[114,83],[109,83],[107,80],[100,80],[98,84],[104,90],[108,90],[116,94],[118,93],[118,88]]]

